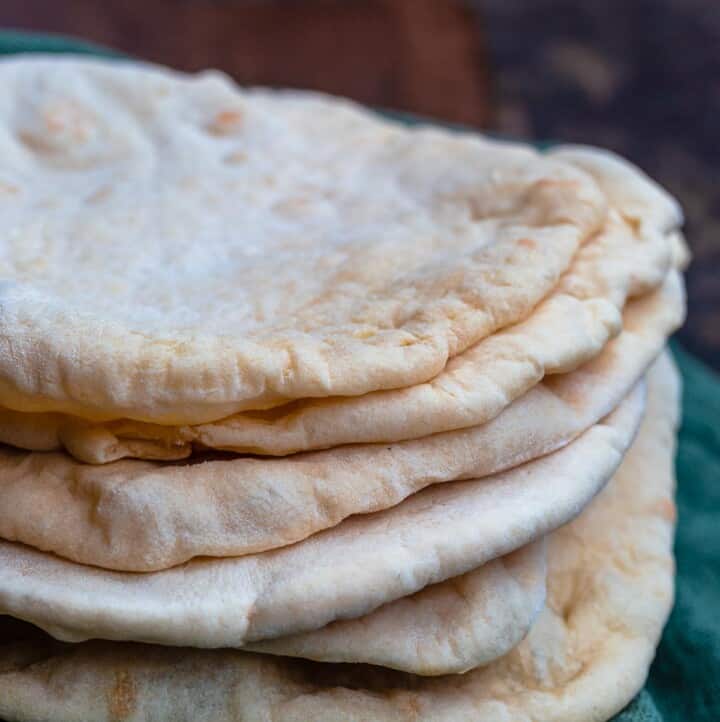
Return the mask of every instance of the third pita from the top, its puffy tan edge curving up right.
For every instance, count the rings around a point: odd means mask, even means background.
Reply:
[[[182,466],[87,466],[0,449],[0,537],[125,571],[291,544],[431,484],[485,477],[562,447],[629,393],[683,312],[673,275],[629,304],[626,330],[596,361],[547,377],[484,426],[426,439]]]

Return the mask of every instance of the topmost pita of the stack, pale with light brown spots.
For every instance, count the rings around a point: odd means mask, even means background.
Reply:
[[[339,99],[77,57],[0,82],[18,411],[197,424],[421,383],[528,316],[607,215],[527,145]]]

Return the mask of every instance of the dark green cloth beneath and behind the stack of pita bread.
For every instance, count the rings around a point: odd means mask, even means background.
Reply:
[[[120,55],[60,36],[0,32],[0,54],[20,52]],[[613,722],[720,721],[720,378],[673,350],[685,382],[677,600],[645,689]]]

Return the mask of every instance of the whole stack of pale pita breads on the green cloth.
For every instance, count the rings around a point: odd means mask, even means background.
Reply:
[[[672,600],[672,198],[214,73],[0,86],[0,717],[627,704]]]

